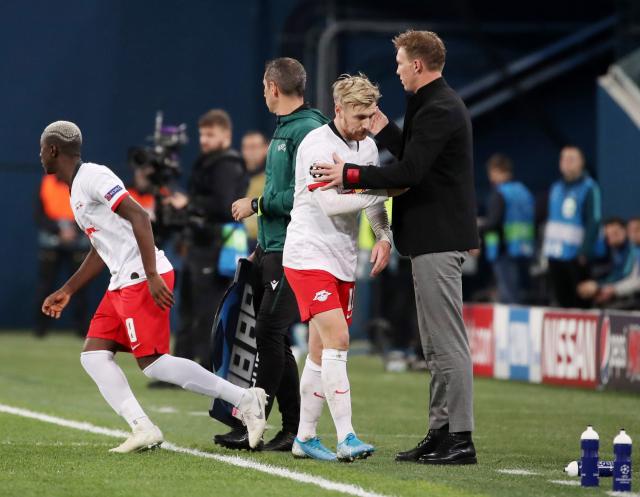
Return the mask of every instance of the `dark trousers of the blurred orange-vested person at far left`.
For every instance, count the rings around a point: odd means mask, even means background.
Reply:
[[[42,302],[55,290],[56,280],[64,269],[65,276],[73,274],[82,264],[86,256],[85,250],[63,248],[40,249],[38,252],[38,286],[36,289],[35,333],[44,336],[53,319],[42,313]],[[89,312],[87,308],[87,291],[79,290],[73,296],[73,327],[79,336],[85,336],[89,329]]]

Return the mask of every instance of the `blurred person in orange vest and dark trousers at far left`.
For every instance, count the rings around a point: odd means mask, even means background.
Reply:
[[[64,269],[64,277],[75,273],[89,250],[89,240],[80,231],[69,204],[69,187],[55,175],[42,178],[36,200],[38,225],[38,286],[36,290],[35,335],[43,337],[51,318],[40,310],[42,301],[55,289],[56,279]],[[75,296],[74,323],[78,336],[85,336],[89,328],[87,293]]]

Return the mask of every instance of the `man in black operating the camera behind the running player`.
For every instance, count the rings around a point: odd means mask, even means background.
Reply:
[[[209,340],[216,306],[231,278],[220,274],[218,259],[225,242],[223,227],[233,222],[231,204],[245,195],[244,161],[231,148],[231,119],[220,109],[198,122],[200,156],[193,165],[187,195],[176,192],[168,203],[186,210],[184,267],[181,282],[180,330],[175,355],[194,359],[211,370]]]

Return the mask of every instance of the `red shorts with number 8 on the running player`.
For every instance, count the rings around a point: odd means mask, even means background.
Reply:
[[[174,273],[161,275],[173,291]],[[154,302],[146,281],[104,294],[93,315],[87,338],[103,338],[122,345],[135,357],[169,353],[169,309]]]

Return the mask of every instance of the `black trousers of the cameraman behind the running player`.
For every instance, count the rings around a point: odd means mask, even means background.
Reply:
[[[189,247],[180,281],[180,330],[174,354],[211,371],[211,329],[218,304],[231,284],[217,272],[219,250]]]

